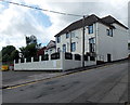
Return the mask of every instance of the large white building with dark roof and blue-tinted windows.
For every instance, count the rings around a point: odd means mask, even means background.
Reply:
[[[74,22],[55,35],[57,52],[82,55],[82,23],[83,19]],[[99,62],[128,57],[128,27],[110,15],[100,18],[92,14],[86,17],[84,54],[94,56]]]

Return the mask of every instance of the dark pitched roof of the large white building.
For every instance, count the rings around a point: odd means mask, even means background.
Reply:
[[[57,37],[57,36],[61,36],[63,34],[66,34],[66,32],[69,32],[72,30],[76,30],[76,29],[79,29],[82,27],[82,19],[79,19],[79,21],[76,21],[74,23],[72,23],[70,25],[68,25],[66,28],[64,28],[62,31],[60,31],[58,34],[56,34],[54,37]],[[113,23],[117,23],[118,25],[127,28],[125,25],[122,25],[121,23],[119,23],[118,21],[116,21],[114,17],[112,16],[106,16],[106,17],[103,17],[103,18],[100,18],[98,17],[96,15],[92,14],[92,15],[89,15],[84,18],[84,26],[89,26],[89,25],[92,25],[96,22],[100,22],[108,27],[112,27],[112,28],[115,28],[112,24]],[[127,28],[128,29],[128,28]]]

